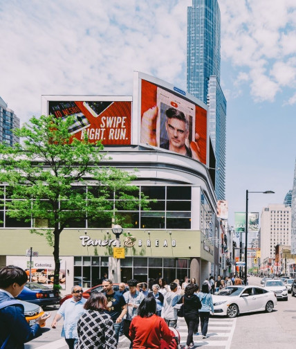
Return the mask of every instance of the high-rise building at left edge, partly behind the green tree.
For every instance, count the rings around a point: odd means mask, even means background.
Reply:
[[[6,142],[8,145],[19,143],[19,137],[12,134],[12,129],[16,128],[19,128],[19,118],[0,97],[0,142]]]

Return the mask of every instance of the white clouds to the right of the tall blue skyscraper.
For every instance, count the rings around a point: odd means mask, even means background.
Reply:
[[[257,101],[275,99],[281,87],[295,87],[296,3],[293,0],[219,0],[221,55],[247,74]]]

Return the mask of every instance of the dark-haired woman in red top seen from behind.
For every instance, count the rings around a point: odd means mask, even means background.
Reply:
[[[138,316],[134,317],[129,327],[129,336],[133,341],[133,349],[146,347],[160,348],[160,339],[167,343],[172,341],[172,334],[165,320],[156,315],[156,301],[147,297],[138,307]]]

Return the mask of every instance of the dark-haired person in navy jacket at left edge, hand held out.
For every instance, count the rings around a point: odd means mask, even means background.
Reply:
[[[0,346],[24,349],[24,343],[41,335],[40,327],[50,316],[42,315],[30,327],[24,315],[24,305],[17,301],[28,281],[26,271],[14,265],[0,269]]]

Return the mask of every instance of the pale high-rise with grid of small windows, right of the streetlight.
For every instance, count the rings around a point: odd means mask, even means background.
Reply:
[[[291,208],[284,204],[270,204],[261,212],[261,263],[275,257],[277,244],[291,244]]]

